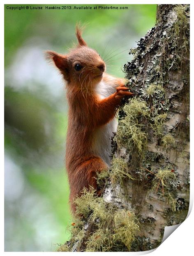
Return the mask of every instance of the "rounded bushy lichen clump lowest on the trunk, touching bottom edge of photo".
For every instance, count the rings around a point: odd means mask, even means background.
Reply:
[[[110,209],[109,209],[110,210]],[[134,213],[124,209],[111,209],[104,221],[86,242],[85,251],[130,251],[134,237],[139,231]]]

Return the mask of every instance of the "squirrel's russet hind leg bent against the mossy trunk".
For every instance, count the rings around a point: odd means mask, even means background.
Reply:
[[[84,187],[88,190],[93,187],[100,196],[102,191],[97,189],[97,173],[104,171],[108,165],[98,156],[85,156],[81,159],[81,163],[76,167],[77,184],[76,187],[70,186],[69,202],[71,205],[72,213],[76,212],[74,198],[76,195],[81,196]]]

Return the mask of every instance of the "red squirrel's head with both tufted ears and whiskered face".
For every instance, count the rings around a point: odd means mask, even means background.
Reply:
[[[67,85],[75,85],[88,91],[88,88],[93,88],[102,80],[106,65],[100,55],[87,46],[81,32],[81,28],[76,26],[78,45],[67,55],[47,51],[46,57],[53,60],[67,81]]]

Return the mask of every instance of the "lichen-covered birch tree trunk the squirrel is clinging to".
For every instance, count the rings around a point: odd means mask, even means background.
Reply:
[[[128,86],[109,171],[76,199],[72,238],[58,251],[146,251],[189,206],[189,5],[158,5],[157,24],[130,51]],[[80,217],[81,216],[81,217]]]

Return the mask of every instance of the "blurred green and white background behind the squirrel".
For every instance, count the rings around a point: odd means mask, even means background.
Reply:
[[[107,60],[107,72],[124,77],[129,49],[155,25],[156,5],[7,6],[18,5],[5,5],[5,251],[55,251],[69,238],[72,222],[64,165],[67,103],[62,78],[44,50],[67,52],[81,21],[87,24],[83,38]]]

